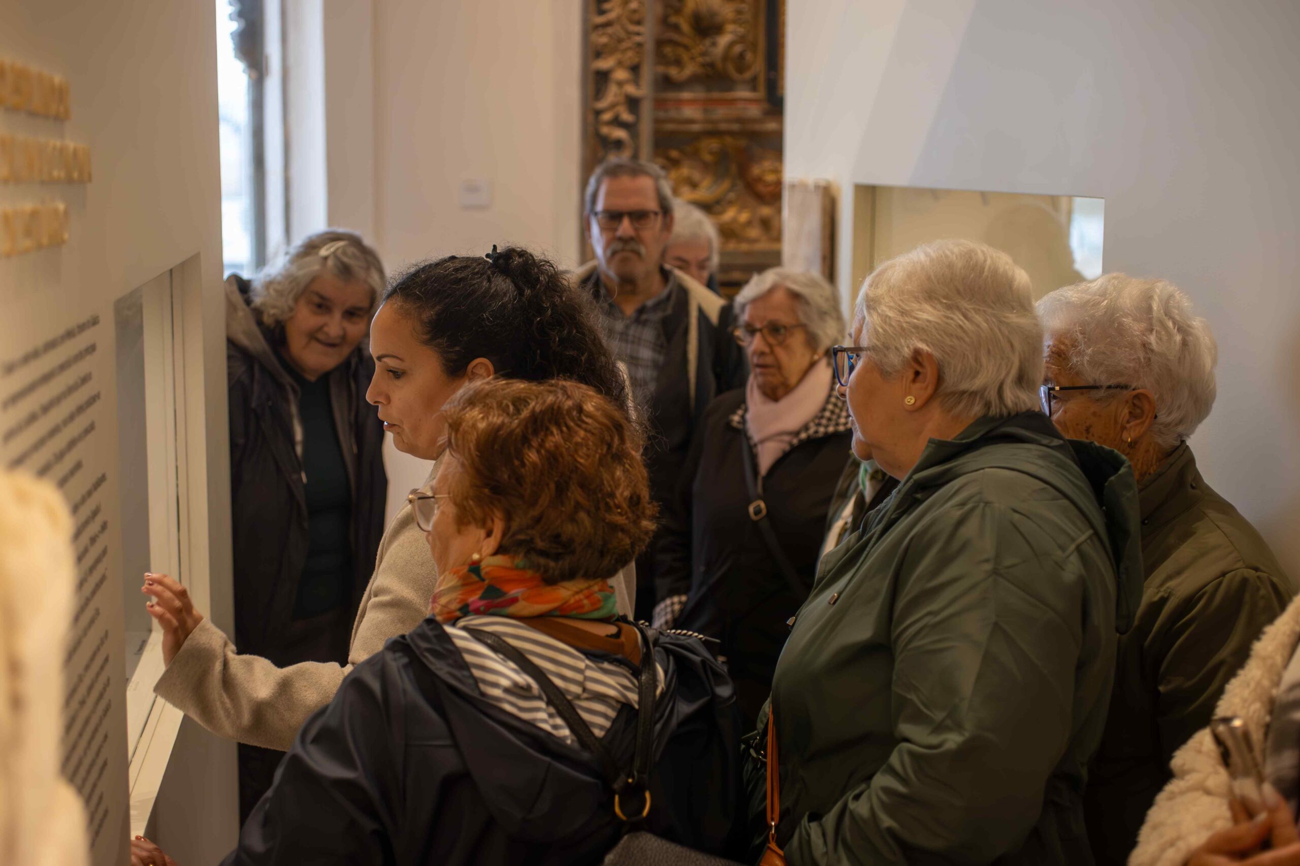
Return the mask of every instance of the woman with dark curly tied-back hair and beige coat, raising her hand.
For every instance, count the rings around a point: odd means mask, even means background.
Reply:
[[[422,262],[384,292],[370,325],[376,371],[367,399],[399,451],[436,460],[445,445],[442,408],[471,382],[569,379],[627,412],[628,386],[592,321],[589,304],[555,265],[525,249]],[[430,474],[432,479],[432,474]],[[630,562],[630,560],[629,560]],[[633,579],[610,574],[620,613]],[[143,591],[164,630],[168,665],[155,691],[209,731],[287,749],[298,728],[329,704],[352,665],[377,653],[429,613],[438,573],[410,505],[389,525],[352,626],[347,665],[289,667],[235,647],[194,609],[185,588],[148,575]]]

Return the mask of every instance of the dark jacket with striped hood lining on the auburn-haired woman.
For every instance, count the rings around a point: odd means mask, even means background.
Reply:
[[[740,719],[699,641],[660,634],[646,830],[736,853]],[[630,766],[637,713],[603,743]],[[485,699],[433,617],[356,666],[307,721],[226,866],[599,863],[621,831],[597,758]]]

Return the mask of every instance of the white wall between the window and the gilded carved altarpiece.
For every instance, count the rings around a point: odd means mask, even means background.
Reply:
[[[370,77],[373,204],[360,196],[355,206],[337,204],[335,142],[346,131],[333,118],[346,112],[347,123],[365,123],[368,109],[364,97],[330,88],[330,221],[360,226],[373,206],[373,240],[390,273],[494,243],[577,264],[581,0],[382,0],[372,8],[373,69],[358,60],[364,51],[328,51],[326,79],[355,88]],[[330,29],[355,14],[344,0],[328,0],[326,45]],[[351,73],[332,71],[348,62]],[[347,147],[364,152],[364,143]],[[359,165],[364,171],[364,160]],[[491,184],[489,208],[460,208],[460,180],[471,178]],[[386,457],[391,515],[428,467],[391,445]]]

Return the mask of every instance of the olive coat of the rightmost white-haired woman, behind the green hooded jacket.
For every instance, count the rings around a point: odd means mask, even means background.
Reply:
[[[1295,589],[1254,527],[1180,445],[1141,499],[1145,580],[1086,797],[1098,863],[1124,863],[1147,811],[1173,778],[1169,761],[1210,723],[1223,687]]]

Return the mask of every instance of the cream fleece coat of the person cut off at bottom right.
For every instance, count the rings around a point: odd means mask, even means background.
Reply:
[[[1264,630],[1251,657],[1223,689],[1214,715],[1239,715],[1262,748],[1282,674],[1300,643],[1300,599]],[[1183,866],[1205,839],[1232,823],[1230,780],[1209,728],[1197,731],[1170,763],[1173,780],[1156,797],[1130,866]]]

